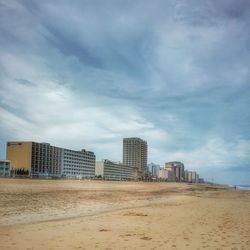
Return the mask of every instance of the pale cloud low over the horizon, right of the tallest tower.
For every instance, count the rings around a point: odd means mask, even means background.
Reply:
[[[185,163],[185,169],[195,170],[208,181],[225,184],[249,183],[250,140],[224,140],[207,137],[203,145],[191,150],[164,151],[161,147],[151,149],[151,159],[173,159]]]

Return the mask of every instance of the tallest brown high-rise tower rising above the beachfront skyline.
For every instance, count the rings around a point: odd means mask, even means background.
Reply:
[[[123,164],[133,166],[143,174],[147,171],[148,145],[147,142],[137,138],[123,139]]]

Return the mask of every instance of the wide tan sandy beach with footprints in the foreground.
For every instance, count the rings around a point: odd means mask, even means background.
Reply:
[[[250,249],[250,192],[0,179],[0,249]]]

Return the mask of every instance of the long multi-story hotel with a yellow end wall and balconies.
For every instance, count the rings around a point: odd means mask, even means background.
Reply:
[[[29,171],[30,176],[67,178],[93,178],[95,155],[93,152],[69,150],[49,143],[8,142],[7,160],[14,169]]]

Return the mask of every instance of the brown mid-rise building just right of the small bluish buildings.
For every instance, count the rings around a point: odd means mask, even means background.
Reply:
[[[184,181],[184,164],[179,161],[165,163],[164,169],[168,173],[169,181]]]

